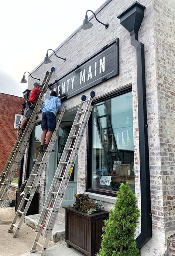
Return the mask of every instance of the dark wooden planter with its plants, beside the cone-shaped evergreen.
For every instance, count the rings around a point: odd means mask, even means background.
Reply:
[[[66,208],[66,243],[86,255],[95,255],[100,248],[102,227],[109,212],[101,202],[90,199],[87,194],[75,194],[76,201]]]

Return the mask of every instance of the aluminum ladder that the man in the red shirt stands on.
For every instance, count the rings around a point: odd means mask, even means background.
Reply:
[[[43,103],[42,96],[44,95],[45,88],[47,87],[49,80],[54,72],[55,68],[52,67],[50,72],[46,72],[44,80],[42,82],[42,91],[38,98],[37,103],[35,104],[32,115],[25,127],[24,133],[19,134],[17,140],[13,146],[13,149],[8,157],[8,160],[4,166],[3,172],[1,173],[1,181],[0,181],[0,206],[3,202],[3,197],[5,196],[10,184],[16,174],[18,166],[21,162],[21,159],[24,155],[25,149],[29,143],[30,134],[33,130],[34,123],[37,117],[37,114],[40,110],[40,107]]]

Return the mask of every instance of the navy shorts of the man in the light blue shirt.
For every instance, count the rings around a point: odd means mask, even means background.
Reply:
[[[54,131],[56,127],[56,116],[52,112],[42,113],[42,130]]]

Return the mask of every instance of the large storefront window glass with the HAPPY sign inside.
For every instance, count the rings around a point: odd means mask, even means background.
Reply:
[[[132,92],[93,105],[91,170],[92,190],[135,191]]]

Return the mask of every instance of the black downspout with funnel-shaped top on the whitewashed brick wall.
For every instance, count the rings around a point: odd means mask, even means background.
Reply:
[[[131,45],[136,47],[137,56],[137,92],[138,92],[138,129],[140,154],[140,190],[141,190],[141,233],[137,237],[139,249],[152,237],[150,165],[147,131],[147,105],[145,89],[144,44],[138,41],[138,30],[144,17],[145,7],[135,2],[117,18],[131,36]]]

